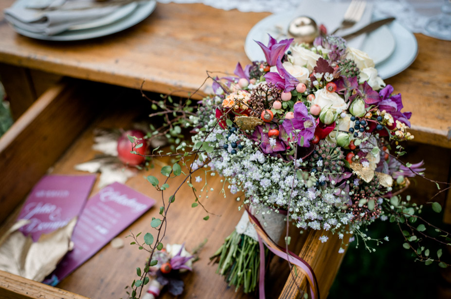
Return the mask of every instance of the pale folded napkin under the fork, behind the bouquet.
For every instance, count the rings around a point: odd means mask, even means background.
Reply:
[[[344,13],[346,12],[350,2],[325,2],[319,0],[303,0],[301,4],[296,8],[295,15],[308,16],[315,20],[320,25],[324,24],[327,28],[327,32],[332,33],[337,29],[342,20]],[[365,11],[359,22],[357,22],[352,28],[338,31],[336,34],[343,36],[348,33],[353,33],[362,27],[368,25],[371,21],[371,14],[373,12],[373,4],[366,3]],[[289,20],[291,21],[291,20]],[[366,34],[361,34],[347,42],[348,46],[360,49]]]

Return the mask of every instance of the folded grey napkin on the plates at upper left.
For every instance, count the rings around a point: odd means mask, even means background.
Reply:
[[[108,17],[123,7],[98,3],[95,0],[18,0],[4,14],[8,22],[22,30],[55,35]]]

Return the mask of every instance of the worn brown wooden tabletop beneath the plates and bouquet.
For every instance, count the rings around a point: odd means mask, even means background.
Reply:
[[[2,0],[0,9],[14,0]],[[202,4],[162,4],[142,23],[87,41],[46,42],[15,33],[0,17],[0,62],[58,75],[168,93],[196,90],[206,70],[233,72],[247,33],[268,13]],[[386,83],[401,92],[419,142],[451,148],[451,42],[415,34],[412,66]],[[202,91],[208,92],[205,86]],[[186,93],[184,93],[186,95]]]

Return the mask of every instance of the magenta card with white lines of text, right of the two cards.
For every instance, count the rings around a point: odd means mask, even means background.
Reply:
[[[154,199],[121,183],[101,189],[86,203],[73,230],[74,248],[53,274],[61,281],[154,204]]]

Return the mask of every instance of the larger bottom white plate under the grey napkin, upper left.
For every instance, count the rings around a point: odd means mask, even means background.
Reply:
[[[138,24],[139,22],[143,21],[146,17],[148,17],[154,10],[157,5],[156,0],[148,0],[148,1],[141,1],[138,2],[138,5],[123,16],[122,18],[117,19],[117,15],[114,17],[111,17],[108,19],[110,22],[103,25],[101,24],[101,19],[98,20],[98,23],[95,24],[93,22],[90,22],[90,28],[80,29],[80,30],[70,30],[63,33],[59,33],[56,35],[43,35],[39,33],[33,33],[29,32],[23,29],[20,29],[16,26],[14,27],[14,30],[16,32],[36,38],[36,39],[42,39],[42,40],[54,40],[54,41],[72,41],[72,40],[83,40],[83,39],[90,39],[100,36],[105,36],[113,33],[117,33],[120,31],[123,31],[127,28],[132,27],[133,25]],[[127,9],[130,9],[130,7],[127,7]],[[125,14],[126,9],[122,10],[122,13]],[[119,15],[119,14],[118,14]],[[110,15],[112,16],[112,15]],[[111,20],[115,18],[116,20],[111,22]],[[103,21],[105,22],[105,20]],[[99,26],[99,24],[101,26]],[[89,24],[88,24],[89,25]],[[95,27],[93,27],[95,26]]]

